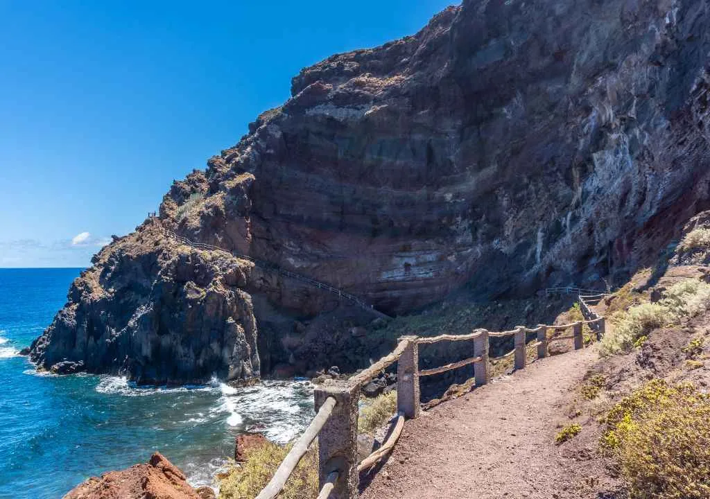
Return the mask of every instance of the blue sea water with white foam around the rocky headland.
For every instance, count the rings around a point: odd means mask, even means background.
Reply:
[[[145,462],[155,450],[194,486],[260,431],[288,442],[313,414],[312,386],[136,388],[107,375],[35,372],[18,351],[66,302],[80,269],[0,269],[0,498],[60,498],[89,476]]]

